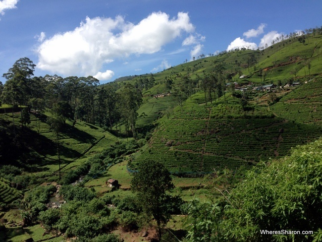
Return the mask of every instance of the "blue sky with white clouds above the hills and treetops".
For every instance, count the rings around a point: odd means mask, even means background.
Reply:
[[[321,0],[0,0],[0,73],[28,57],[36,76],[106,83],[201,54],[269,46],[321,27],[321,12]]]

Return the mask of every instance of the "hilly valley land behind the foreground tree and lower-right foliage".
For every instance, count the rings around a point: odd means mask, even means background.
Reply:
[[[0,108],[0,229],[10,222],[0,238],[103,241],[113,232],[142,241],[137,229],[144,225],[153,239],[155,222],[147,222],[131,191],[144,160],[170,171],[176,187],[169,194],[176,197],[164,203],[172,206],[167,230],[184,238],[176,214],[189,213],[193,203],[187,201],[214,201],[245,170],[281,161],[292,147],[322,136],[321,47],[322,35],[308,35],[304,43],[294,37],[265,50],[222,52],[106,85],[93,77],[33,78],[35,86],[26,87],[40,90],[26,96],[34,99]],[[30,123],[22,126],[23,112]],[[50,125],[54,115],[58,133]]]

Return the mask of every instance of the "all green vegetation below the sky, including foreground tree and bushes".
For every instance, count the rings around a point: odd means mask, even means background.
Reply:
[[[105,85],[17,60],[0,87],[0,240],[321,241],[321,33]],[[260,233],[282,229],[314,235]]]

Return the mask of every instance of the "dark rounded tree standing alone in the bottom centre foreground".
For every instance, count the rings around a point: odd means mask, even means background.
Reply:
[[[147,215],[157,221],[159,238],[161,226],[170,218],[168,203],[171,197],[166,192],[173,187],[169,171],[160,162],[152,160],[141,162],[132,179],[131,189],[140,197]]]

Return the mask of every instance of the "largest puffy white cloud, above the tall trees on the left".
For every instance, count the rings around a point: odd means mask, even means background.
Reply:
[[[37,49],[37,67],[63,75],[99,75],[104,63],[132,54],[153,54],[179,37],[193,32],[187,13],[169,18],[154,12],[138,24],[123,17],[89,18],[74,30],[46,39]],[[98,78],[99,79],[99,78]]]

